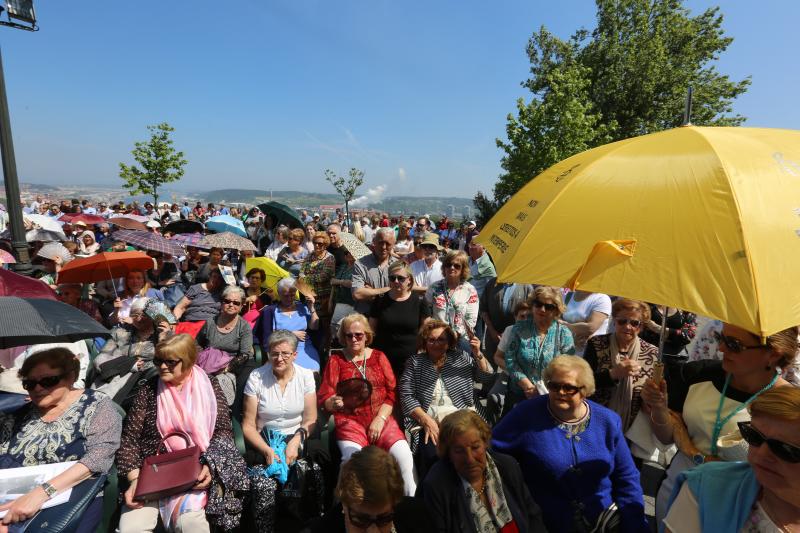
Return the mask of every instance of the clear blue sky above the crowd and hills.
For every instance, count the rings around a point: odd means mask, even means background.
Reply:
[[[366,171],[389,195],[489,190],[494,139],[547,26],[594,24],[594,2],[36,0],[41,30],[0,28],[19,174],[119,185],[145,126],[167,121],[189,160],[180,188],[330,191]],[[693,0],[699,11],[714,2]],[[719,62],[752,75],[747,125],[800,129],[800,2],[723,4]]]

